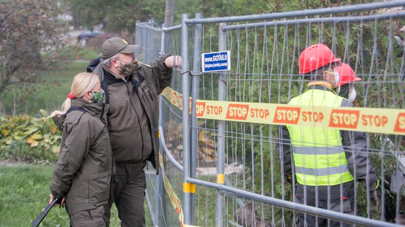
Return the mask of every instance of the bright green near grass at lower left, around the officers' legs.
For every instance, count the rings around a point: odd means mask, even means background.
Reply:
[[[31,226],[49,201],[50,165],[0,164],[0,226]],[[145,202],[146,225],[153,226]],[[111,208],[111,227],[120,225],[118,213]],[[53,208],[40,226],[69,226],[65,209]]]

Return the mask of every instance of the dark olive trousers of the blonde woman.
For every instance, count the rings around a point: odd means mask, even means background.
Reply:
[[[99,206],[92,210],[70,214],[70,227],[105,227],[104,208],[105,206]]]

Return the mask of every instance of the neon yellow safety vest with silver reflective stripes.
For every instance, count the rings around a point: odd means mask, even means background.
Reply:
[[[342,100],[330,91],[310,89],[291,99],[289,104],[339,107]],[[327,186],[353,180],[339,130],[299,126],[287,126],[287,129],[298,183]]]

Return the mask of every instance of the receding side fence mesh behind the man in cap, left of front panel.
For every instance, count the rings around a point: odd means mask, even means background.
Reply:
[[[180,31],[165,32],[162,36],[160,28],[156,28],[153,22],[137,23],[135,39],[136,44],[140,45],[137,51],[137,58],[139,61],[149,64],[152,61],[156,61],[161,54],[181,55],[180,54]],[[163,38],[163,40],[162,40]],[[182,93],[182,81],[181,75],[176,68],[173,70],[173,77],[170,87]],[[183,149],[183,133],[182,133],[182,111],[174,104],[170,103],[166,97],[160,97],[160,140],[161,140],[161,154],[163,158],[164,171],[166,177],[170,182],[173,192],[182,200],[182,182],[183,173],[174,162],[183,162],[182,149]],[[163,148],[162,146],[165,146]],[[170,156],[173,157],[172,162],[169,161],[169,157],[166,155],[165,150],[170,151]],[[150,175],[147,175],[147,201],[149,211],[154,220],[155,226],[181,226],[179,222],[179,214],[173,208],[170,195],[165,191],[162,194],[157,195],[159,189],[156,186],[156,172],[151,171],[153,167],[148,164]],[[162,171],[161,171],[162,172]],[[161,176],[162,177],[162,176]],[[158,179],[159,180],[159,179]],[[163,178],[161,179],[163,183]],[[150,187],[149,187],[150,185]],[[166,185],[167,186],[167,185]],[[164,187],[162,188],[163,190]],[[167,190],[166,190],[167,191]],[[157,196],[157,200],[155,200]],[[155,203],[153,203],[156,201]],[[156,210],[155,206],[159,206]],[[156,214],[156,212],[159,212]],[[155,215],[159,216],[157,220]]]

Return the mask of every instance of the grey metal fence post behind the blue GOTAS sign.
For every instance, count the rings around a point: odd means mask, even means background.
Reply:
[[[219,51],[226,50],[226,32],[222,31],[222,27],[226,23],[220,23],[219,31]],[[220,73],[220,78],[218,79],[218,100],[225,101],[226,99],[226,75],[224,72]],[[217,150],[217,183],[225,184],[225,121],[218,121],[218,150]],[[224,226],[224,195],[217,191],[216,195],[216,211],[215,211],[215,226]]]

